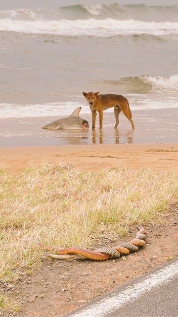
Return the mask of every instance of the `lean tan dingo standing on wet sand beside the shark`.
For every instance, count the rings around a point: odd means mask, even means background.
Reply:
[[[89,107],[92,113],[92,129],[95,128],[96,121],[96,111],[99,113],[99,128],[102,129],[103,122],[103,110],[114,107],[114,115],[116,119],[115,129],[119,124],[119,113],[122,111],[124,115],[128,118],[128,120],[132,124],[132,128],[134,129],[134,122],[132,120],[132,112],[129,106],[128,100],[121,95],[98,95],[97,93],[84,93],[84,97],[87,99],[89,103]]]

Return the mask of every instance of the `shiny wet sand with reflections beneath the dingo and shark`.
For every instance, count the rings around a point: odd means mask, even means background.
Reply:
[[[122,113],[118,129],[114,129],[114,109],[104,112],[102,131],[98,115],[95,130],[91,129],[90,114],[81,117],[89,120],[88,131],[41,128],[58,117],[0,119],[0,147],[178,142],[178,108],[133,111],[134,131]]]

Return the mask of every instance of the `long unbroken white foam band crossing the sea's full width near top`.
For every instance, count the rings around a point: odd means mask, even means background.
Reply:
[[[66,36],[116,36],[178,34],[178,22],[143,22],[138,20],[11,20],[0,19],[0,31]]]

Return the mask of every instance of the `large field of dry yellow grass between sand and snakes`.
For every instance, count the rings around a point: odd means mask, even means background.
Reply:
[[[41,262],[39,243],[91,247],[98,237],[123,236],[140,221],[159,222],[178,199],[178,174],[109,168],[81,173],[70,165],[0,170],[0,278]]]

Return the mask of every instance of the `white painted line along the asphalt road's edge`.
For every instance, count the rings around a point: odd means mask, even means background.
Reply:
[[[150,274],[133,286],[128,286],[118,294],[111,295],[78,313],[70,315],[70,317],[104,317],[125,304],[133,302],[153,288],[169,282],[175,276],[178,276],[178,261]]]

